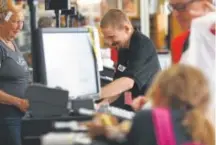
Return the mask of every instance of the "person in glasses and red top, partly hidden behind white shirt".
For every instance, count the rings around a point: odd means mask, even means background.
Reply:
[[[183,30],[171,45],[172,62],[178,63],[188,49],[191,21],[215,9],[212,0],[169,0],[169,9]]]

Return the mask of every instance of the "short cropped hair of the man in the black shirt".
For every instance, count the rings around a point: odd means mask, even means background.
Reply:
[[[110,9],[102,18],[100,27],[105,28],[108,26],[122,27],[125,23],[131,24],[128,16],[119,9]],[[132,24],[131,24],[132,25]]]

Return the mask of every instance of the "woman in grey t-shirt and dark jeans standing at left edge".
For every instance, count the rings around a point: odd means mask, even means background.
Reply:
[[[22,6],[0,13],[0,144],[21,145],[21,118],[29,107],[24,99],[29,72],[14,39],[23,27]]]

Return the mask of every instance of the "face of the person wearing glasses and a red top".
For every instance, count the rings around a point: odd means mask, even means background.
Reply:
[[[183,29],[189,29],[191,21],[198,17],[198,13],[204,14],[205,0],[169,0],[169,6]],[[201,16],[201,15],[200,15]]]

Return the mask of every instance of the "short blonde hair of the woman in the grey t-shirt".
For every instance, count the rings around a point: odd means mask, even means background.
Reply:
[[[11,17],[17,17],[16,14],[22,12],[23,3],[15,4],[12,0],[0,0],[0,23],[5,21],[9,12],[12,12]]]

